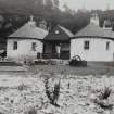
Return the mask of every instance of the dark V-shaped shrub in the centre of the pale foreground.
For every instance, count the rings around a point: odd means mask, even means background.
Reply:
[[[49,88],[49,81],[47,78],[45,87],[46,87],[46,94],[48,99],[50,100],[50,103],[56,107],[60,107],[60,105],[56,103],[60,96],[60,81],[54,85],[54,90],[51,91]]]

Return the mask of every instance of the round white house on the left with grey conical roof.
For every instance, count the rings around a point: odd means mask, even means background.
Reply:
[[[7,58],[24,59],[26,56],[36,59],[43,50],[43,38],[48,31],[37,27],[30,18],[28,23],[8,37]]]

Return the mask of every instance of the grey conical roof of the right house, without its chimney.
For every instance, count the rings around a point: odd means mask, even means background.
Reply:
[[[103,29],[97,26],[96,24],[90,23],[75,35],[75,38],[80,38],[80,37],[101,37],[101,38],[114,39],[114,31],[109,29]]]

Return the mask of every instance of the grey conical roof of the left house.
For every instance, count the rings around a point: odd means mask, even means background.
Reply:
[[[9,36],[9,38],[35,38],[43,39],[48,35],[48,31],[36,26],[36,23],[29,21],[24,26],[18,28],[15,33]]]

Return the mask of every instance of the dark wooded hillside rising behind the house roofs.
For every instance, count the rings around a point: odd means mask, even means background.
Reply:
[[[43,2],[45,1],[45,2]],[[89,23],[92,12],[98,12],[100,16],[100,26],[103,26],[104,20],[114,22],[114,10],[72,10],[64,4],[64,11],[60,9],[59,0],[1,0],[0,9],[0,42],[5,42],[5,37],[23,26],[29,20],[29,15],[34,15],[36,22],[46,20],[50,29],[58,24],[69,29],[73,34],[84,28]],[[114,30],[114,24],[113,30]]]

